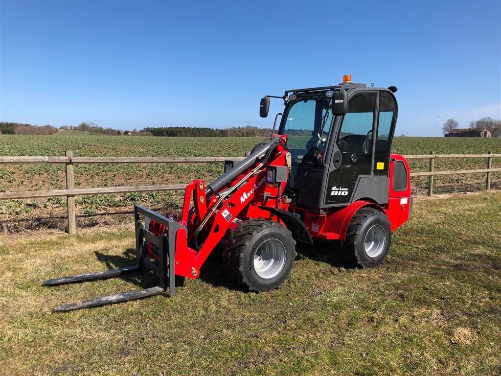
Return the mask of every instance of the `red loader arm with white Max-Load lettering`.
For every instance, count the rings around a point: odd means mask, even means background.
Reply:
[[[268,153],[265,153],[263,158],[258,158],[252,165],[247,164],[249,166],[247,169],[240,168],[241,173],[236,179],[222,185],[215,193],[212,193],[212,189],[206,190],[205,183],[200,179],[195,179],[187,187],[181,223],[187,223],[188,237],[187,241],[179,239],[179,243],[176,238],[176,275],[197,278],[203,263],[227,231],[236,228],[240,221],[239,217],[242,219],[276,217],[269,210],[261,209],[259,206],[282,207],[280,192],[284,192],[287,181],[268,184],[266,167],[288,165],[286,140],[287,136],[281,136],[273,145],[273,149],[266,150]],[[209,195],[206,195],[207,193]],[[191,219],[190,199],[194,209],[194,216]],[[182,238],[182,235],[179,235],[179,238]],[[188,247],[188,243],[193,244],[195,249]]]

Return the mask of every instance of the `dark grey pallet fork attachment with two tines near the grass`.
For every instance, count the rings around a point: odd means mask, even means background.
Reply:
[[[134,272],[140,269],[152,271],[159,280],[158,286],[142,290],[124,292],[100,298],[87,299],[79,302],[60,305],[54,308],[54,311],[70,311],[73,309],[96,307],[105,304],[124,302],[127,300],[141,299],[152,295],[162,294],[169,290],[172,296],[175,294],[175,274],[174,274],[174,255],[176,232],[179,229],[186,228],[178,222],[165,218],[140,205],[134,205],[134,218],[136,224],[136,261],[132,266],[126,266],[117,269],[105,270],[102,272],[86,273],[69,277],[55,278],[44,281],[46,286],[55,286],[65,283],[92,281],[116,277],[122,274]],[[143,219],[144,218],[144,224]],[[150,221],[165,226],[166,233],[155,235],[149,231]],[[148,251],[148,243],[152,245],[153,252]],[[151,259],[156,259],[151,261]]]

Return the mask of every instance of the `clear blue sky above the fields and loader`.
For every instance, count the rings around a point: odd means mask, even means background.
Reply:
[[[271,127],[263,95],[398,87],[397,134],[501,118],[501,2],[0,2],[0,119]],[[272,100],[271,113],[283,102]]]

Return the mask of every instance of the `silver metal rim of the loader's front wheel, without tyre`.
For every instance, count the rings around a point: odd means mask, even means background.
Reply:
[[[280,274],[285,265],[285,246],[278,239],[267,239],[254,254],[254,270],[265,279]]]

